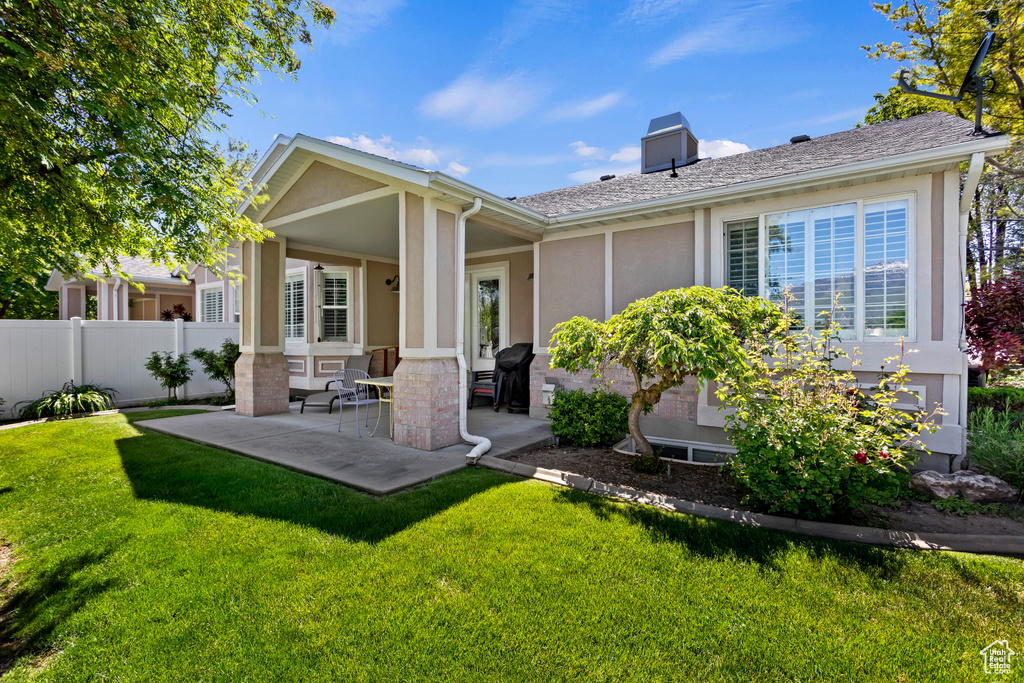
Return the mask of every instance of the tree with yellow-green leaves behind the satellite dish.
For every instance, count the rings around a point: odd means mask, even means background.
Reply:
[[[982,123],[1009,134],[1011,148],[982,175],[971,212],[968,279],[972,290],[1024,267],[1024,5],[1016,0],[907,0],[877,3],[905,36],[892,43],[865,45],[872,59],[908,68],[914,85],[956,94],[985,34],[995,40],[979,74],[986,79]],[[895,75],[894,75],[895,78]],[[903,92],[898,87],[874,95],[864,123],[882,123],[925,112],[947,112],[974,120],[974,97],[959,102]]]

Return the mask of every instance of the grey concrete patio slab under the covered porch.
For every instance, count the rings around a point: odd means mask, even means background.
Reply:
[[[388,436],[388,407],[373,436],[377,407],[370,407],[370,427],[355,433],[355,411],[345,409],[341,432],[338,412],[315,410],[299,414],[299,403],[287,415],[247,418],[219,411],[158,418],[136,423],[157,432],[213,445],[239,455],[329,479],[375,496],[393,494],[466,467],[469,444],[426,452],[396,445]],[[359,411],[359,422],[365,413]],[[525,415],[471,411],[469,430],[492,439],[490,454],[508,455],[553,442],[546,421]]]

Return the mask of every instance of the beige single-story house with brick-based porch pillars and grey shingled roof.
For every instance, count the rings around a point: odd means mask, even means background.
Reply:
[[[865,385],[904,338],[914,351],[908,405],[946,411],[926,442],[947,464],[964,453],[967,215],[986,156],[1007,136],[933,113],[700,160],[675,114],[653,120],[640,143],[637,173],[502,198],[306,135],[278,137],[251,174],[265,201],[239,209],[274,237],[241,249],[237,411],[286,412],[290,388],[394,344],[395,440],[443,447],[462,439],[466,373],[493,367],[497,349],[534,344],[530,414],[544,417],[553,386],[591,384],[550,369],[558,323],[606,318],[673,288],[778,300],[788,287],[807,321],[843,295],[844,345],[859,348]],[[612,379],[629,393],[625,372]],[[669,392],[644,424],[695,451],[728,447],[707,389]]]

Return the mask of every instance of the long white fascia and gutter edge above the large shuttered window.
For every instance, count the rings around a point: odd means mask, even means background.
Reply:
[[[608,218],[621,218],[645,211],[666,211],[678,210],[699,206],[707,202],[720,202],[722,200],[746,199],[752,195],[760,195],[767,191],[778,191],[792,189],[801,185],[808,185],[818,182],[848,180],[858,176],[870,175],[880,172],[899,172],[912,168],[927,166],[937,163],[962,162],[971,158],[972,154],[984,153],[986,155],[999,154],[1010,146],[1010,137],[1000,135],[996,137],[986,137],[981,140],[972,140],[944,147],[935,147],[922,152],[914,152],[896,157],[884,157],[854,164],[844,164],[829,168],[815,169],[813,171],[801,171],[791,173],[776,178],[766,178],[764,180],[752,180],[734,185],[723,187],[713,187],[710,189],[697,190],[686,195],[674,195],[632,204],[623,204],[611,208],[590,209],[575,213],[554,216],[548,219],[549,227],[568,227],[573,223],[584,223],[592,220]]]

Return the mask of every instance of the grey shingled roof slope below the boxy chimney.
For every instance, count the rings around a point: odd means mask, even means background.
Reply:
[[[686,195],[740,182],[775,178],[856,162],[894,157],[978,139],[974,123],[932,112],[909,119],[854,128],[798,144],[705,159],[671,171],[630,173],[515,200],[549,216]]]

